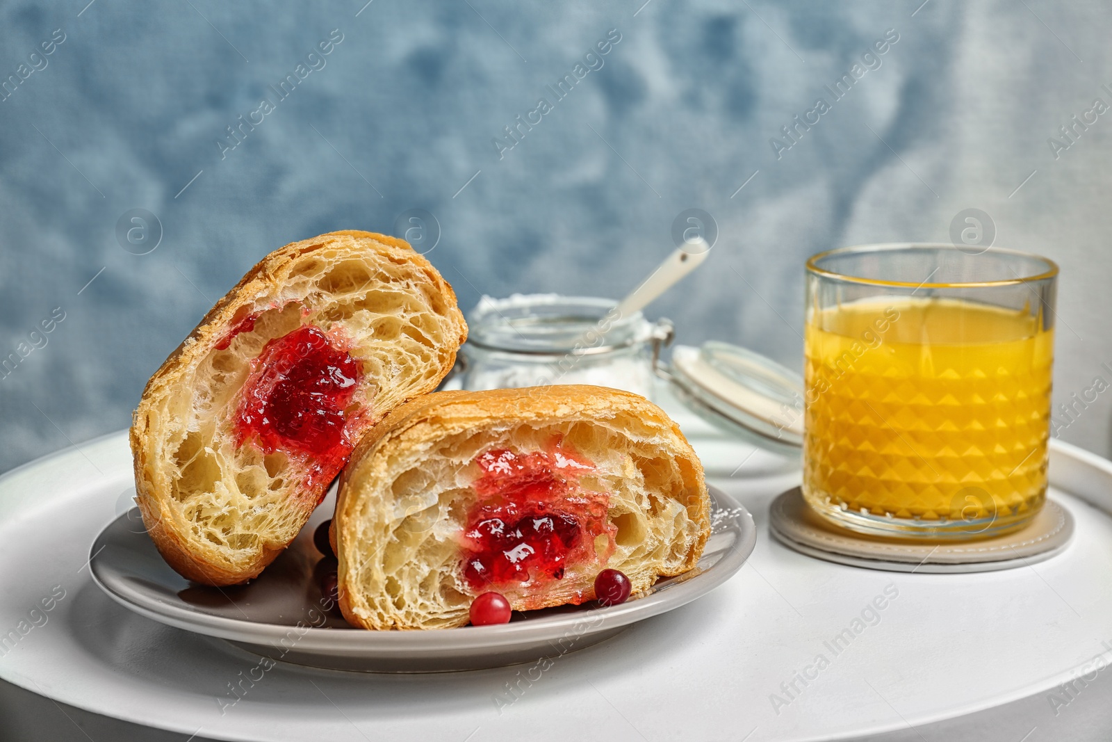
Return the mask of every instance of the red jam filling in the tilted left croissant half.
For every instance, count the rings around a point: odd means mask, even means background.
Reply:
[[[312,325],[267,343],[251,362],[236,412],[238,445],[250,438],[264,453],[306,458],[310,484],[330,482],[355,447],[347,408],[361,369],[334,343]]]

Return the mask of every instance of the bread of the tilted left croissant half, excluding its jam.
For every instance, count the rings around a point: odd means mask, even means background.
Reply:
[[[132,419],[143,523],[189,580],[256,576],[324,496],[328,482],[307,484],[304,455],[236,446],[232,432],[251,359],[305,324],[344,338],[360,362],[361,429],[435,389],[467,337],[451,287],[404,240],[336,231],[260,260],[155,372]]]

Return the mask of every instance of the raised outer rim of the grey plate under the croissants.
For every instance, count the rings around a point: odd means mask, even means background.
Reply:
[[[495,626],[459,626],[453,630],[437,631],[370,631],[370,630],[337,630],[318,629],[311,625],[291,625],[257,623],[241,619],[217,616],[203,612],[190,611],[172,603],[147,596],[135,591],[125,591],[113,586],[111,577],[106,577],[102,561],[98,561],[102,551],[106,532],[127,513],[113,518],[100,530],[90,546],[89,572],[92,581],[116,603],[159,623],[181,629],[205,636],[214,636],[245,644],[274,644],[287,639],[291,632],[298,636],[298,647],[305,650],[338,651],[347,650],[360,653],[407,654],[415,652],[439,652],[444,650],[466,651],[469,649],[488,647],[492,644],[510,645],[516,641],[534,641],[537,634],[549,636],[558,630],[580,625],[588,617],[600,617],[602,621],[590,621],[582,634],[616,629],[649,619],[662,613],[678,609],[712,592],[734,576],[748,560],[756,546],[757,528],[752,513],[735,497],[718,487],[708,485],[707,493],[713,504],[719,511],[732,512],[732,520],[738,524],[738,536],[734,544],[705,572],[696,574],[676,584],[667,591],[649,594],[645,597],[622,605],[596,607],[585,612],[545,616],[533,621],[522,621]],[[714,537],[712,532],[711,536]],[[464,630],[460,632],[460,630]]]

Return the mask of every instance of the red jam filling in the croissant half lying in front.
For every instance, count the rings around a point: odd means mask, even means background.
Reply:
[[[463,576],[475,591],[552,585],[568,568],[605,564],[614,550],[607,495],[579,485],[594,465],[566,447],[479,455],[479,496],[464,531]],[[606,545],[596,551],[596,538]],[[530,590],[530,592],[533,592]]]

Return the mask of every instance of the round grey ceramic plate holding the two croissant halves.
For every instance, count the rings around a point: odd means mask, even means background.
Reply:
[[[335,670],[437,672],[496,667],[565,654],[628,625],[705,595],[741,568],[756,544],[753,516],[711,489],[713,531],[698,566],[658,581],[622,605],[594,602],[516,612],[508,624],[444,631],[351,629],[319,607],[314,566],[321,555],[306,527],[281,556],[247,585],[191,583],[162,561],[133,508],[111,522],[90,550],[92,577],[109,596],[155,621],[228,640],[272,659]]]

